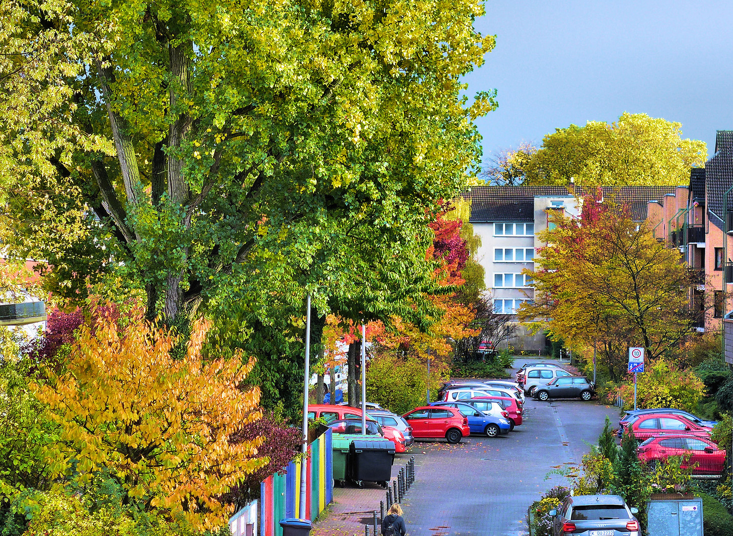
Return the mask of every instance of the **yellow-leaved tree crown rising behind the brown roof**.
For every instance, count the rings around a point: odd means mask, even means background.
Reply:
[[[704,141],[682,138],[682,124],[623,113],[608,124],[571,124],[545,135],[539,150],[509,152],[487,175],[501,184],[583,186],[686,185],[707,159]],[[493,174],[492,174],[493,171]],[[498,178],[496,178],[498,177]],[[503,182],[502,182],[503,181]]]

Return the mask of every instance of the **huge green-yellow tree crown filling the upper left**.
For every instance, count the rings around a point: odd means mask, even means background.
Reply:
[[[473,120],[496,106],[460,95],[494,45],[483,12],[0,1],[7,252],[46,259],[56,296],[144,291],[169,322],[255,295],[287,318],[304,288],[342,316],[407,310],[426,223],[475,171]]]

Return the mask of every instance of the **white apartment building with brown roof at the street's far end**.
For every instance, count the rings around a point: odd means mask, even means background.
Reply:
[[[679,219],[681,210],[688,206],[686,186],[603,187],[601,191],[604,199],[627,204],[633,220],[649,220],[660,238],[671,233],[670,225],[677,225],[675,215]],[[552,225],[549,220],[553,212],[580,217],[583,196],[589,193],[595,194],[597,189],[572,185],[476,186],[463,194],[471,199],[470,222],[481,237],[477,260],[485,269],[487,294],[497,313],[514,315],[524,300],[534,297],[528,286],[531,281],[522,270],[534,269],[535,252],[545,245],[537,235]],[[546,345],[544,334],[530,335],[521,325],[509,343],[531,351],[542,351]]]

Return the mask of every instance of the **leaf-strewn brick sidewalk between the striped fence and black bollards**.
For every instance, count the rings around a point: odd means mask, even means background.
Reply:
[[[410,455],[410,453],[395,455],[392,466],[393,482],[397,480],[399,469],[408,463]],[[422,456],[415,457],[416,466],[419,466],[419,458]],[[416,474],[419,478],[419,469],[416,469]],[[409,499],[410,491],[405,494],[402,506],[407,506]],[[372,511],[377,510],[377,518],[380,516],[380,501],[386,501],[386,489],[375,483],[364,483],[364,488],[357,488],[352,483],[347,483],[345,488],[336,487],[334,502],[315,521],[311,535],[364,536],[364,525],[369,524],[369,536],[374,536],[371,528],[374,520]],[[379,529],[378,521],[377,529]]]

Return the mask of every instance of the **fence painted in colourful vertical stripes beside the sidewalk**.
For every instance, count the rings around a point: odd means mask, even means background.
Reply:
[[[330,429],[308,445],[305,465],[306,518],[312,521],[334,496]],[[299,517],[302,466],[300,461],[291,461],[283,474],[273,474],[260,484],[260,536],[282,536],[280,520]]]

